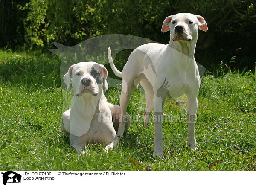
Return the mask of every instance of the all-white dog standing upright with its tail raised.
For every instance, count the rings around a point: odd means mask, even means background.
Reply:
[[[195,45],[198,28],[207,31],[207,23],[200,15],[179,13],[166,17],[162,32],[170,30],[169,44],[150,43],[139,46],[128,58],[122,73],[116,69],[108,49],[108,59],[116,76],[122,77],[120,97],[121,116],[125,116],[129,98],[138,83],[145,90],[146,108],[144,125],[148,125],[154,109],[154,156],[163,157],[163,104],[166,98],[187,94],[188,145],[197,148],[195,140],[195,115],[200,87],[198,66],[195,62]],[[122,137],[125,123],[120,118],[117,135]]]

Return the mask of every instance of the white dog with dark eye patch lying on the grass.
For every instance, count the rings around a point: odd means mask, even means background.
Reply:
[[[119,123],[121,109],[119,105],[108,103],[104,96],[103,87],[108,89],[107,76],[108,71],[102,64],[80,62],[73,64],[63,77],[67,89],[72,78],[74,96],[71,109],[62,115],[61,129],[79,154],[88,142],[107,142],[105,150],[118,143],[112,115]],[[128,131],[130,120],[125,125]]]

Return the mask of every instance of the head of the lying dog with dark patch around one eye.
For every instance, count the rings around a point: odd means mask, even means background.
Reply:
[[[63,79],[67,89],[69,89],[72,78],[72,86],[76,96],[79,97],[84,94],[97,96],[103,86],[108,89],[107,76],[108,71],[104,65],[95,62],[80,62],[73,64]]]

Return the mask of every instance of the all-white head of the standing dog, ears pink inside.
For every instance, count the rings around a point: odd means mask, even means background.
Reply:
[[[170,30],[172,41],[194,41],[197,38],[198,28],[207,31],[207,24],[200,15],[179,13],[170,15],[163,21],[162,32]]]

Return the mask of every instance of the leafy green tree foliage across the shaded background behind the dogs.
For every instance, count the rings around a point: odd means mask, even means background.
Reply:
[[[3,6],[3,0],[0,1]],[[165,17],[179,12],[201,15],[208,32],[199,33],[197,55],[216,61],[244,56],[241,67],[254,64],[256,43],[256,2],[254,0],[28,0],[19,7],[18,16],[26,15],[24,34],[28,43],[49,46],[58,42],[73,46],[88,38],[105,34],[128,34],[167,44],[168,36],[161,32]],[[16,2],[16,1],[15,1]],[[18,13],[17,13],[18,12]],[[2,13],[3,14],[3,13]],[[4,17],[2,24],[10,21]],[[2,35],[8,35],[1,30]],[[15,39],[10,38],[14,42]],[[22,43],[22,39],[20,39]],[[207,56],[207,54],[214,54]],[[248,62],[249,60],[249,62]],[[236,60],[235,60],[236,61]],[[240,60],[241,61],[241,60]],[[244,65],[244,62],[246,65]],[[208,66],[211,66],[209,62]]]

